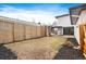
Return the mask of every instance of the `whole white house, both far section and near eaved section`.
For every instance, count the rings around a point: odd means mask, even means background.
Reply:
[[[86,23],[86,4],[70,8],[70,14],[56,16],[52,28],[57,35],[74,35],[78,44],[79,41],[79,25]]]

